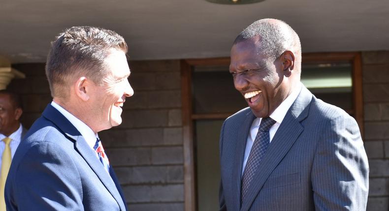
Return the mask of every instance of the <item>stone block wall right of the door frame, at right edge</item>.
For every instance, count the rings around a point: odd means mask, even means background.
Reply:
[[[370,167],[368,211],[389,210],[389,52],[363,52],[364,144]]]

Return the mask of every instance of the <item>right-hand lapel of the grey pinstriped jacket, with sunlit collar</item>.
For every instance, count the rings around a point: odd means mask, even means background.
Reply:
[[[255,182],[250,185],[245,203],[240,209],[241,211],[248,211],[250,209],[251,204],[254,202],[259,190],[262,188],[271,172],[289,152],[293,143],[304,130],[300,122],[308,115],[311,99],[312,94],[303,86],[300,94],[285,115],[284,120],[274,135],[266,155],[260,162],[253,179]]]

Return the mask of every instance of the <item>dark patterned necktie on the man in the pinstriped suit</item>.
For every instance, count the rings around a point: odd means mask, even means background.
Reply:
[[[276,121],[270,117],[262,118],[262,121],[260,122],[257,136],[255,137],[253,147],[251,148],[249,158],[247,159],[246,167],[243,171],[241,204],[243,204],[243,200],[249,190],[259,163],[265,156],[267,147],[270,144],[269,130],[274,123],[276,123]]]

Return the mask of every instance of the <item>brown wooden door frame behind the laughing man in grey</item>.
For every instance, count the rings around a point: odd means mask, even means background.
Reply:
[[[196,171],[194,158],[194,128],[196,119],[225,119],[232,113],[194,114],[192,102],[192,71],[195,66],[229,65],[229,57],[182,59],[181,69],[181,100],[182,100],[182,130],[184,148],[184,207],[185,211],[197,210]],[[302,63],[318,62],[350,62],[352,64],[353,81],[353,109],[352,113],[357,120],[363,137],[363,95],[362,95],[362,62],[359,52],[337,53],[303,53]]]

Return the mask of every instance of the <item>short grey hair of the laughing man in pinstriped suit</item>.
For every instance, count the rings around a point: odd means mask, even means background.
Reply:
[[[285,51],[297,54],[301,61],[301,44],[297,33],[287,23],[277,19],[261,19],[245,28],[235,39],[234,44],[260,37],[260,53],[276,59]]]

